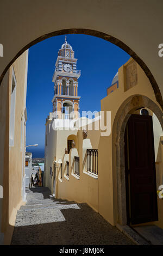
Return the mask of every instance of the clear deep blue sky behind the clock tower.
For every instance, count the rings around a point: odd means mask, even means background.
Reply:
[[[64,42],[65,35],[60,35],[29,48],[26,145],[39,144],[39,147],[28,148],[34,157],[43,156],[45,120],[52,112],[54,96],[52,76],[58,51]],[[67,35],[67,42],[78,59],[77,69],[81,70],[78,80],[80,112],[100,111],[106,88],[130,56],[121,48],[95,36]]]

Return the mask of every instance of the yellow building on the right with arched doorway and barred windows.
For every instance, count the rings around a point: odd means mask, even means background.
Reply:
[[[55,197],[85,202],[121,230],[149,223],[163,228],[163,201],[156,193],[162,184],[161,107],[133,58],[118,69],[112,84],[118,86],[101,100],[101,114],[91,121],[77,119],[76,131],[57,131],[60,150],[50,187]],[[107,112],[110,133],[97,130]],[[65,150],[69,140],[75,143]]]

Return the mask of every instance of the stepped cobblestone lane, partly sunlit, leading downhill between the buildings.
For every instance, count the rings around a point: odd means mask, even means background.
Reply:
[[[11,245],[133,245],[87,204],[51,199],[46,187],[27,191]]]

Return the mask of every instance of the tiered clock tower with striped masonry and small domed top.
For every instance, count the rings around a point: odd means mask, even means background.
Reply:
[[[77,59],[74,58],[72,46],[62,44],[58,58],[55,63],[53,75],[54,97],[53,112],[57,113],[55,118],[73,119],[78,118],[79,99],[78,78],[80,70],[77,70]],[[74,112],[74,114],[72,114]],[[61,115],[61,117],[60,117]]]

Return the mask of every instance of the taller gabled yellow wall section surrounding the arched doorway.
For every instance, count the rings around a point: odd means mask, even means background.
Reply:
[[[143,70],[140,68],[140,66],[132,59],[130,58],[126,64],[121,66],[121,68],[118,70],[118,89],[116,89],[114,92],[110,93],[108,96],[106,96],[101,101],[101,108],[102,111],[111,111],[111,136],[108,137],[101,137],[99,141],[99,212],[101,215],[104,216],[106,220],[108,220],[111,224],[115,225],[116,223],[120,223],[121,225],[131,224],[132,220],[133,223],[145,223],[147,220],[149,220],[149,216],[147,217],[147,212],[145,214],[145,209],[141,212],[141,206],[142,203],[145,204],[146,200],[149,200],[149,204],[146,205],[146,208],[149,207],[151,203],[151,208],[148,208],[148,211],[152,211],[152,209],[155,210],[155,212],[151,212],[150,220],[156,220],[157,219],[157,206],[156,206],[156,184],[155,184],[155,162],[157,161],[157,155],[156,151],[158,151],[158,147],[160,148],[160,138],[158,141],[155,141],[155,144],[152,142],[152,134],[149,136],[149,145],[152,148],[151,151],[151,157],[153,158],[153,162],[151,163],[149,161],[149,153],[148,153],[148,147],[146,145],[146,150],[142,151],[142,144],[135,146],[135,142],[133,141],[133,157],[135,157],[135,154],[141,153],[139,155],[142,157],[142,160],[144,160],[145,157],[148,156],[148,161],[146,160],[146,164],[148,166],[151,166],[153,164],[152,174],[149,178],[148,172],[144,175],[140,175],[136,179],[139,180],[140,184],[144,186],[147,186],[148,182],[153,180],[153,183],[151,183],[153,188],[151,188],[151,198],[153,199],[153,202],[150,201],[151,199],[149,196],[149,191],[147,190],[146,194],[145,191],[143,191],[143,188],[139,186],[139,190],[137,191],[137,195],[134,194],[136,192],[133,192],[131,197],[131,191],[127,191],[126,187],[126,149],[125,149],[125,142],[128,143],[125,138],[125,131],[126,126],[128,124],[128,120],[130,119],[131,115],[141,114],[142,108],[148,108],[152,112],[149,112],[152,114],[153,119],[153,131],[154,131],[154,138],[160,137],[162,135],[162,111],[161,107],[156,101],[155,94],[153,92],[153,89],[151,87],[151,83],[149,82],[147,76],[143,72]],[[142,114],[141,114],[142,116]],[[143,118],[143,117],[142,117]],[[140,122],[140,121],[139,121]],[[138,122],[138,123],[139,123]],[[142,122],[142,121],[141,121]],[[159,129],[156,129],[157,125],[159,125]],[[141,130],[140,130],[141,131]],[[141,138],[141,132],[143,136],[145,137],[147,132],[139,131],[139,137]],[[152,131],[151,131],[152,133]],[[137,141],[139,139],[137,138]],[[135,135],[132,136],[132,138],[135,138]],[[155,140],[155,139],[154,139]],[[131,139],[130,139],[131,141]],[[143,141],[143,138],[142,138]],[[144,142],[145,143],[145,142]],[[151,143],[151,144],[150,144]],[[134,148],[134,147],[137,147]],[[131,148],[127,149],[131,151]],[[154,160],[154,154],[155,154],[155,160]],[[132,162],[129,159],[129,156],[127,156],[128,160]],[[136,161],[136,160],[133,160]],[[129,163],[128,163],[129,164]],[[131,164],[131,163],[130,163]],[[148,167],[149,167],[148,166]],[[138,168],[138,167],[137,167]],[[129,167],[131,169],[131,167]],[[145,168],[146,169],[146,168]],[[136,171],[135,171],[136,173]],[[130,181],[131,182],[131,181]],[[133,182],[133,181],[132,181]],[[149,184],[150,184],[149,182]],[[148,184],[148,185],[149,185]],[[135,183],[132,183],[132,186],[134,186]],[[135,185],[136,186],[136,185]],[[129,189],[129,188],[128,188]],[[133,188],[134,191],[134,188]],[[139,194],[139,191],[142,191],[142,193]],[[138,196],[139,194],[139,196]],[[141,195],[141,196],[140,196]],[[145,198],[143,196],[145,195]],[[147,197],[146,197],[147,196]],[[132,203],[129,202],[130,199],[133,199],[134,197],[137,197]],[[141,201],[141,199],[143,200]],[[128,200],[128,202],[127,202]],[[140,200],[140,202],[139,202]],[[108,202],[104,206],[103,202]],[[135,206],[134,204],[138,206]],[[129,204],[129,205],[127,205]],[[162,201],[158,199],[158,212],[160,216],[160,205],[162,204]],[[136,208],[137,207],[137,208]],[[130,217],[128,220],[127,216],[127,209],[130,208]],[[132,212],[133,211],[133,212]],[[132,213],[138,212],[137,217],[133,217]],[[138,215],[140,215],[138,217]],[[142,217],[144,216],[144,217]],[[137,220],[136,220],[137,218]],[[143,221],[144,220],[144,221]],[[156,224],[161,224],[161,218],[158,217],[158,222]]]

